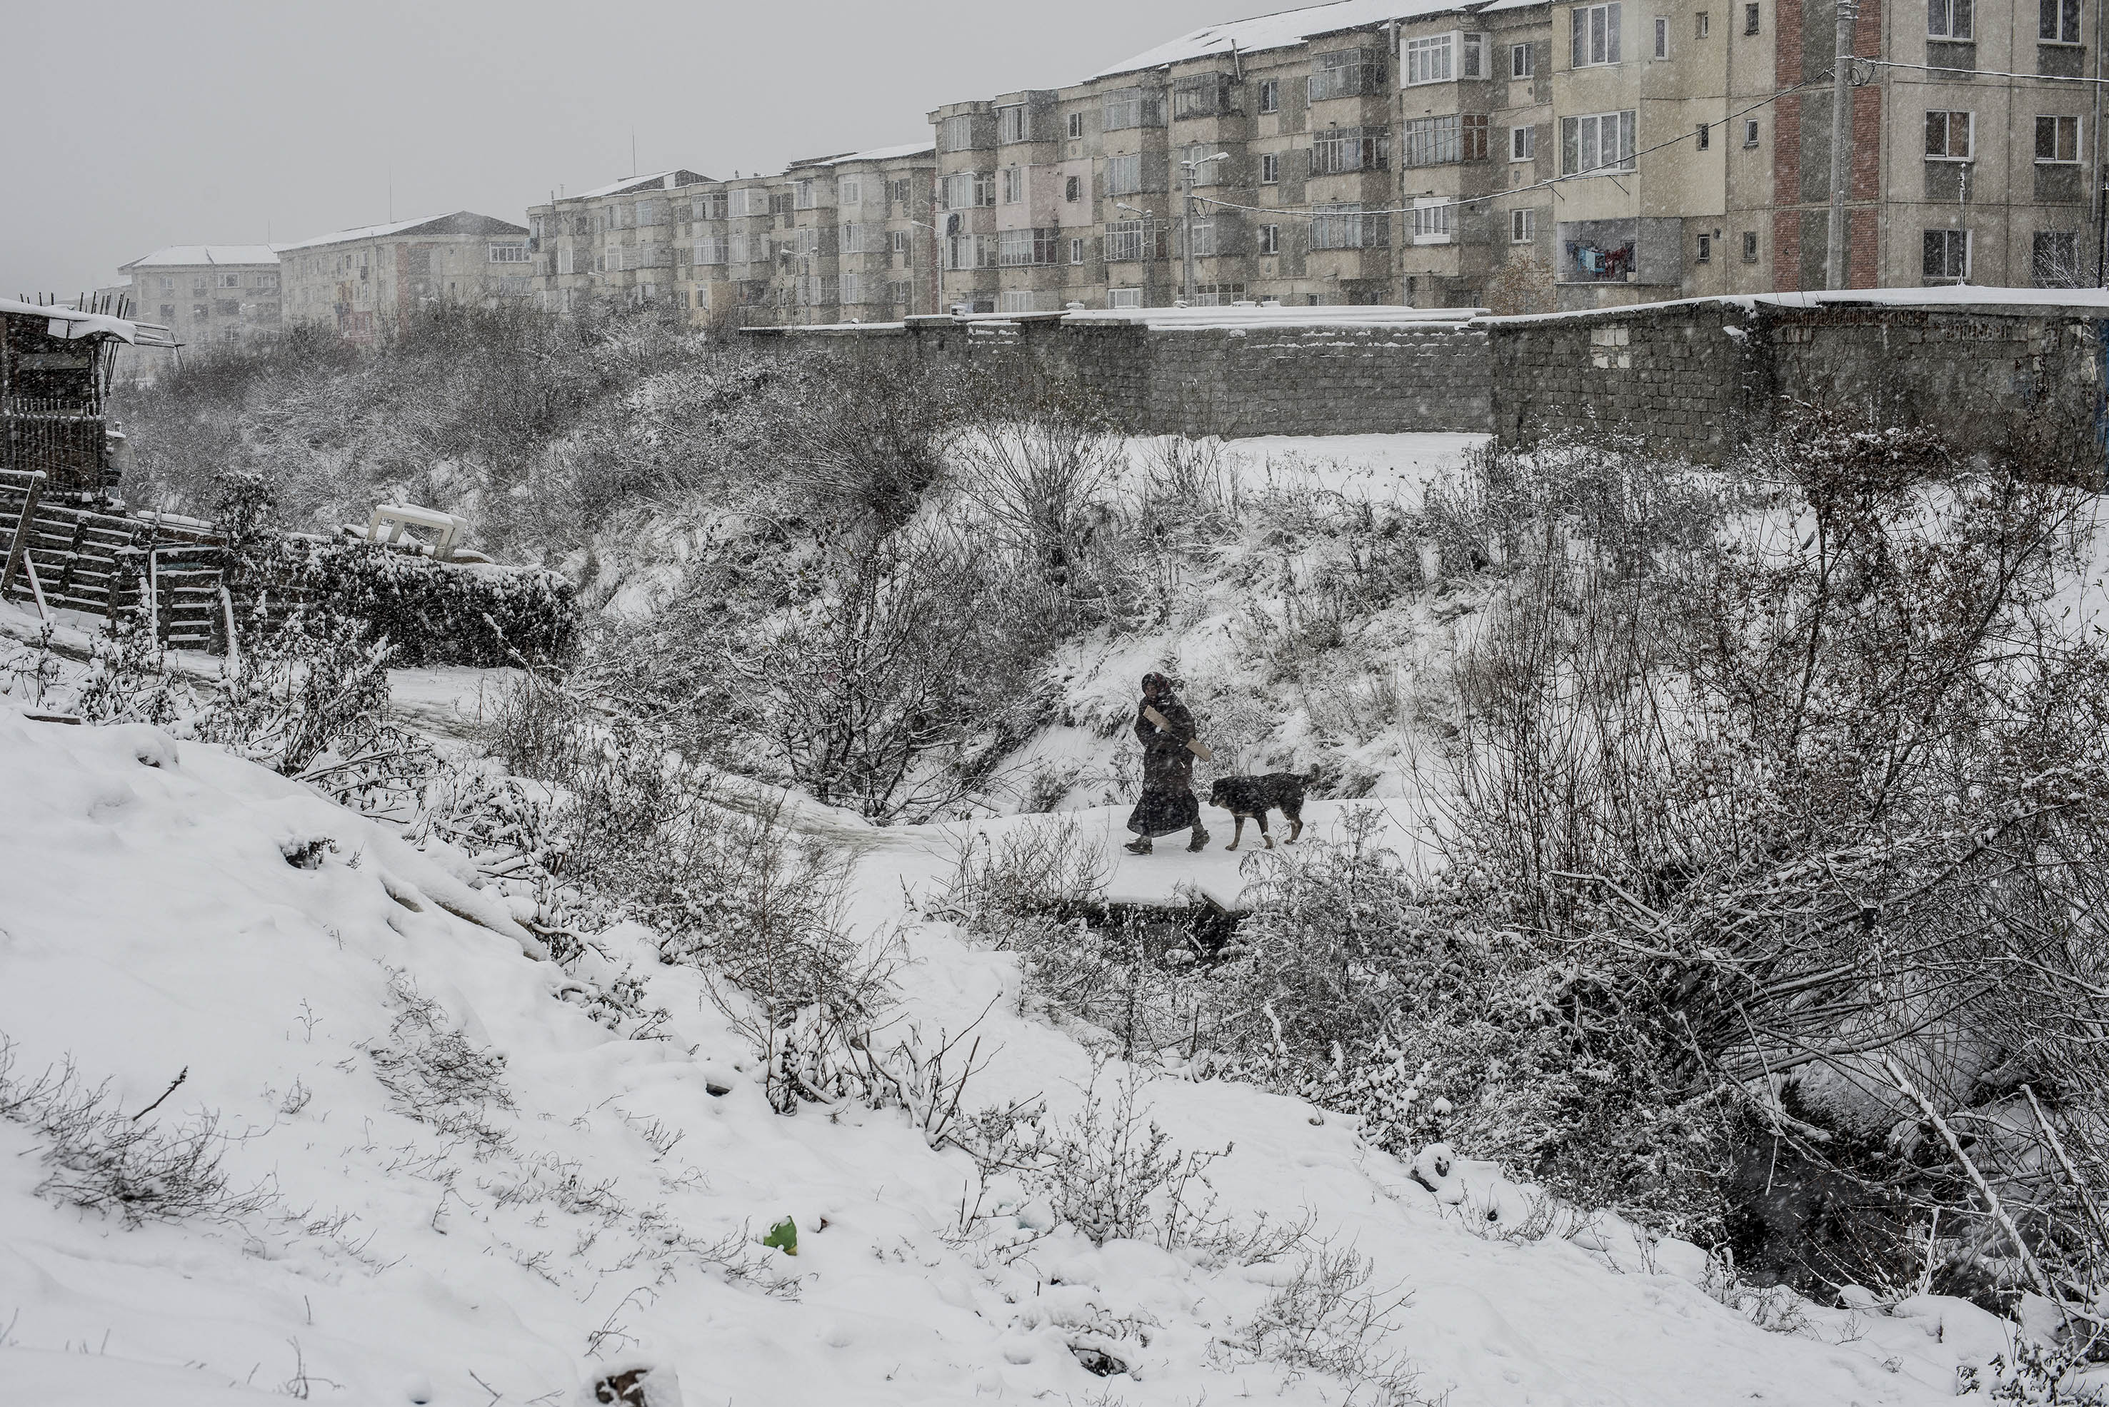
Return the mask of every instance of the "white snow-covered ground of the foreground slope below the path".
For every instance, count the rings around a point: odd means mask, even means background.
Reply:
[[[38,1196],[40,1139],[0,1120],[4,1403],[572,1403],[588,1346],[677,1367],[692,1405],[1348,1401],[1240,1348],[1282,1266],[1067,1230],[1006,1261],[1000,1240],[1044,1209],[960,1234],[972,1169],[901,1114],[772,1114],[700,977],[652,962],[637,930],[603,934],[597,975],[635,964],[666,1040],[563,1000],[578,981],[447,856],[211,747],[0,705],[0,797],[17,1086],[72,1061],[129,1120],[183,1072],[146,1126],[217,1118],[234,1188],[272,1194],[127,1230]],[[867,932],[909,918],[957,844],[841,829],[871,842]],[[1120,886],[1227,863],[1160,852]],[[989,1013],[974,1101],[1078,1105],[1090,1057],[1004,1000],[1010,958],[943,924],[909,945],[905,1017],[957,1032]],[[1618,1226],[1529,1240],[1525,1194],[1491,1169],[1466,1164],[1445,1204],[1295,1099],[1173,1078],[1145,1099],[1183,1148],[1234,1143],[1211,1173],[1221,1211],[1308,1215],[1369,1257],[1375,1289],[1411,1295],[1384,1350],[1430,1401],[1932,1403],[2001,1346],[1944,1299],[1797,1306],[1797,1331],[1767,1333],[1702,1293],[1689,1247],[1649,1264]],[[795,1259],[757,1245],[785,1215]],[[1095,1377],[1076,1348],[1130,1371]]]

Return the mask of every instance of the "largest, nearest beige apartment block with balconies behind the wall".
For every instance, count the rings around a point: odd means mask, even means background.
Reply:
[[[2098,2],[1866,0],[1852,285],[2094,281],[2094,93],[2056,78],[2101,76]],[[1339,0],[947,103],[943,302],[1170,304],[1189,219],[1198,304],[1822,287],[1833,23],[1820,0]]]

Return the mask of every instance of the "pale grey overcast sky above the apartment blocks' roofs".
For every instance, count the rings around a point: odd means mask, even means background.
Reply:
[[[939,103],[1076,82],[1293,0],[0,0],[0,295],[557,186],[776,171],[928,139]],[[1044,19],[1025,19],[1027,13]],[[392,188],[392,194],[390,194]]]

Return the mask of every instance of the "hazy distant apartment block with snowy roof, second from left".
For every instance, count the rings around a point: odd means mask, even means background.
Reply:
[[[534,293],[527,230],[456,211],[276,245],[285,323],[335,327],[373,342],[426,306],[491,304]]]

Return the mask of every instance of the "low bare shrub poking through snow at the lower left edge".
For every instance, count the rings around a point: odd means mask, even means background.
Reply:
[[[15,1044],[0,1036],[0,1118],[40,1141],[44,1181],[36,1186],[65,1207],[114,1215],[124,1226],[148,1221],[243,1221],[268,1211],[266,1188],[238,1190],[224,1167],[230,1135],[211,1110],[175,1129],[127,1116],[110,1084],[86,1086],[74,1063],[19,1080]]]

